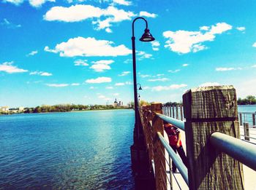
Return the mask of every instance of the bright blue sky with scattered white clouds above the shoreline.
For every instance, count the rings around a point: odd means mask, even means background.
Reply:
[[[143,100],[232,84],[256,95],[255,1],[1,0],[0,106],[133,99],[132,20]]]

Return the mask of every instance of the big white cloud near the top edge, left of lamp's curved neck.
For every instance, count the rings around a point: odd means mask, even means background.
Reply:
[[[127,3],[128,1],[117,0],[116,3]],[[63,22],[79,22],[82,20],[92,20],[92,24],[96,25],[97,30],[105,29],[110,32],[112,23],[119,23],[124,20],[132,20],[135,14],[126,12],[124,9],[118,9],[109,6],[106,9],[94,7],[86,4],[76,4],[71,7],[52,7],[44,15],[44,19],[48,21],[63,21]],[[108,29],[106,29],[108,28]]]

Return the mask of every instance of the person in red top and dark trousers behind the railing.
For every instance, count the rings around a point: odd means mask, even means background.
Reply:
[[[164,121],[164,128],[165,128],[165,132],[167,133],[168,138],[169,138],[170,147],[172,147],[173,151],[176,154],[178,151],[178,155],[181,157],[182,162],[187,167],[187,157],[186,157],[186,154],[182,147],[180,131],[173,124],[167,123],[165,121]],[[173,173],[176,173],[177,167],[174,164],[174,162],[172,162],[172,166],[173,166],[172,167]]]

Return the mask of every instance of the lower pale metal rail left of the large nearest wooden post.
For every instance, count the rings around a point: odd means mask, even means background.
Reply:
[[[173,149],[170,147],[169,143],[165,140],[165,138],[162,136],[160,132],[157,132],[157,135],[159,137],[159,140],[162,142],[162,145],[167,150],[168,154],[170,155],[171,159],[173,159],[174,164],[180,171],[182,177],[184,178],[184,181],[189,186],[189,177],[187,174],[187,167],[184,165],[184,163],[181,161],[181,159],[178,158],[178,155],[173,151]]]

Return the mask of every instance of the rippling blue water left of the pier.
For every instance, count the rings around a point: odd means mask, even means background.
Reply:
[[[0,189],[134,189],[134,111],[0,116]]]

